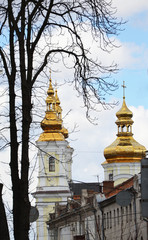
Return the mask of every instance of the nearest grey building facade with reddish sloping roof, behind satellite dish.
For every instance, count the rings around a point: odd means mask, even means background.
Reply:
[[[140,174],[135,175],[113,188],[106,194],[107,199],[99,203],[102,210],[99,224],[104,228],[101,239],[148,240],[148,222],[141,215],[140,178]],[[131,194],[131,200],[119,205],[117,195],[123,190]]]

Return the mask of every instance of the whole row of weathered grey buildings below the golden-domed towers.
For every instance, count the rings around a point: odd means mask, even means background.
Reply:
[[[148,240],[148,222],[141,216],[140,175],[105,194],[83,190],[81,201],[57,206],[48,221],[51,240]],[[104,186],[105,187],[105,186]],[[117,203],[121,191],[131,193],[128,204]],[[106,196],[106,197],[104,197]]]

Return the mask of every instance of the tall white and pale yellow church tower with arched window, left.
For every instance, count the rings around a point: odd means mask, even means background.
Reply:
[[[38,185],[34,197],[39,211],[37,239],[48,240],[46,221],[54,212],[55,203],[64,204],[71,195],[71,164],[73,149],[66,138],[68,130],[63,127],[62,109],[57,90],[50,78],[46,98],[45,117],[41,122],[43,132],[36,145],[38,148]]]

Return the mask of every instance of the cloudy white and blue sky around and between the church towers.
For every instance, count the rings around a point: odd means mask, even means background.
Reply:
[[[113,109],[95,113],[98,120],[96,125],[93,125],[86,119],[83,101],[73,90],[73,86],[63,85],[58,88],[63,116],[70,111],[64,117],[64,126],[69,130],[68,141],[74,149],[72,179],[82,182],[104,179],[101,166],[105,161],[103,151],[116,139],[116,112],[122,104],[123,81],[126,85],[126,103],[133,112],[134,138],[148,148],[148,1],[113,0],[113,3],[117,7],[117,16],[126,21],[124,30],[115,38],[120,47],[109,55],[100,55],[94,46],[92,54],[98,55],[105,63],[118,63],[120,70],[114,75],[114,79],[118,81],[119,88],[108,99],[119,104]],[[84,37],[86,42],[90,41],[89,34],[85,34]],[[70,79],[71,75],[62,67],[58,73],[52,73],[53,82],[58,82],[59,79],[64,81],[67,77]],[[77,127],[73,131],[75,126]],[[0,158],[5,160],[5,151],[0,153]],[[5,174],[8,172],[1,168],[2,182]],[[35,191],[37,183],[36,174],[37,172],[32,180],[32,191]],[[7,188],[4,195],[6,192]]]

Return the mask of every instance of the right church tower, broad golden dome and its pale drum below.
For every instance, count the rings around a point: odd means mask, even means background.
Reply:
[[[104,157],[106,161],[102,164],[104,180],[114,181],[115,186],[140,172],[140,161],[145,157],[146,151],[146,148],[133,138],[133,114],[125,102],[125,85],[123,84],[122,87],[123,104],[116,113],[117,138],[110,146],[105,148]]]

